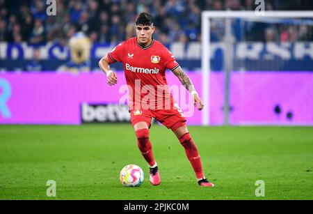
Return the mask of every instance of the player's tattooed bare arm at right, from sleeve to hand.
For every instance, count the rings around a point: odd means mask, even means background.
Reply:
[[[193,82],[191,82],[191,79],[186,75],[186,72],[182,70],[180,66],[172,70],[172,72],[178,77],[179,81],[182,83],[183,86],[191,93],[193,97],[193,105],[195,107],[198,107],[199,110],[202,110],[204,105],[202,100],[200,99],[197,91],[195,91],[195,86],[193,85]]]

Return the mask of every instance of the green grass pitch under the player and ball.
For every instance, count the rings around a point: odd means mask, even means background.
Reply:
[[[215,188],[200,188],[175,135],[153,125],[161,185],[149,183],[131,125],[0,125],[0,199],[313,199],[313,128],[189,127]],[[125,188],[120,169],[145,171]],[[56,197],[46,195],[56,181]],[[256,197],[255,181],[265,183]]]

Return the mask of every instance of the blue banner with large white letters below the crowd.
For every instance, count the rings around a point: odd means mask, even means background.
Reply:
[[[96,43],[90,51],[90,70],[99,70],[98,61],[110,52],[115,43]],[[24,70],[33,57],[33,45],[27,43],[0,43],[0,70]],[[201,44],[172,43],[168,48],[182,68],[201,70]],[[211,43],[211,69],[223,70],[225,43]],[[70,50],[58,43],[40,46],[42,63],[47,70],[57,70],[70,61]],[[311,70],[313,43],[239,42],[234,45],[234,70]],[[120,63],[112,66],[122,70]]]

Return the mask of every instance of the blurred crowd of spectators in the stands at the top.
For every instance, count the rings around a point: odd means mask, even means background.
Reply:
[[[312,10],[312,1],[266,0],[266,10]],[[254,0],[56,0],[56,15],[47,16],[45,0],[0,0],[0,41],[40,44],[66,41],[83,31],[93,42],[114,43],[134,36],[134,20],[143,11],[154,16],[157,38],[163,44],[201,40],[202,10],[254,10]],[[310,40],[312,27],[278,27],[246,23],[235,31],[237,40]],[[239,28],[238,28],[239,29]],[[212,40],[221,40],[220,23],[212,26]],[[254,33],[250,33],[254,32]],[[310,35],[309,35],[310,34]],[[308,36],[309,35],[309,36]]]

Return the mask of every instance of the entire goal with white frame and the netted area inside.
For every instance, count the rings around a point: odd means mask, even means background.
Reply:
[[[313,125],[312,18],[202,12],[202,124]]]

